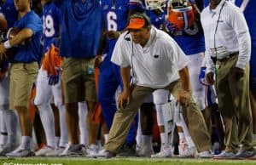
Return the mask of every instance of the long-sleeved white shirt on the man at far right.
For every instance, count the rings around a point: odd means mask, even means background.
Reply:
[[[206,40],[207,72],[213,71],[214,68],[211,56],[223,59],[234,52],[239,52],[236,67],[244,69],[251,57],[251,38],[241,9],[225,0],[222,0],[216,9],[210,9],[208,5],[201,12],[201,24]],[[219,48],[218,53],[214,48]]]

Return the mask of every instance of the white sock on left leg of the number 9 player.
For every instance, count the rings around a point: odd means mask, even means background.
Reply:
[[[55,148],[55,117],[49,104],[38,105],[40,118],[44,126],[47,145]]]

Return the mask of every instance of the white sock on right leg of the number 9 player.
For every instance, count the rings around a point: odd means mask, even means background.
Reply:
[[[66,146],[68,143],[67,122],[66,122],[66,107],[58,105],[60,115],[61,139],[58,146]]]

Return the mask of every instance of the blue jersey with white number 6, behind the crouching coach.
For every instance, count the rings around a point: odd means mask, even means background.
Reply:
[[[129,0],[102,0],[101,1],[102,15],[104,25],[107,31],[123,31],[127,26],[129,14]],[[104,53],[108,53],[105,60],[110,60],[113,48],[117,39],[107,38],[107,46]]]

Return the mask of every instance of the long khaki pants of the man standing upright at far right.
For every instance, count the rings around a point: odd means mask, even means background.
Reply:
[[[238,55],[226,61],[217,61],[216,89],[218,105],[224,122],[224,144],[226,151],[236,152],[252,148],[253,125],[249,100],[249,65],[245,75],[236,80],[232,68],[236,66]]]

